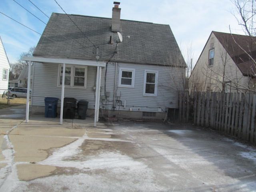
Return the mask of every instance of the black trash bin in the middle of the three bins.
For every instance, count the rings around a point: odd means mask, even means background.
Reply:
[[[76,99],[65,97],[63,102],[63,118],[74,119],[75,114],[76,114]]]

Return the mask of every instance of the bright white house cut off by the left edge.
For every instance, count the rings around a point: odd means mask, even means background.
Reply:
[[[4,91],[8,90],[10,68],[11,66],[0,37],[0,94],[3,94]]]

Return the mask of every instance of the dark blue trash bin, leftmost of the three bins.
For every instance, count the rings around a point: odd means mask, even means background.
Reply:
[[[44,116],[45,117],[57,117],[58,98],[46,97],[44,98]]]

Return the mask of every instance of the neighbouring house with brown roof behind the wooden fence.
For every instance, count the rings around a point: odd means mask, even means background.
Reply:
[[[212,31],[190,75],[190,90],[254,90],[255,59],[256,37]]]

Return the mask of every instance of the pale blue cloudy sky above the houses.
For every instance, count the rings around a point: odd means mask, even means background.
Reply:
[[[29,0],[15,0],[43,22],[48,18]],[[14,0],[0,0],[0,12],[42,34],[45,24]],[[63,13],[54,0],[30,0],[50,17]],[[113,0],[57,0],[68,14],[112,17]],[[120,0],[121,19],[169,24],[182,54],[198,60],[210,33],[214,31],[244,34],[233,14],[232,0]],[[22,52],[36,46],[40,35],[0,14],[0,36],[10,63]]]

